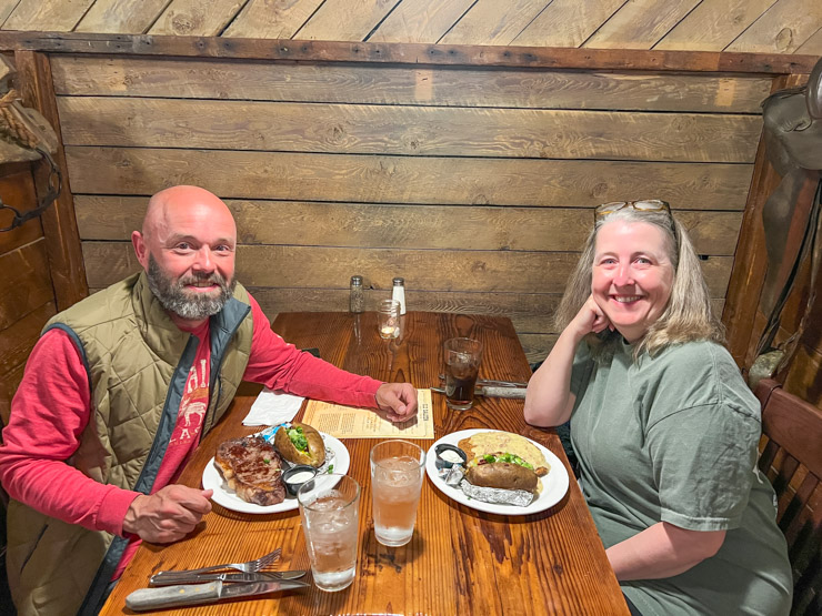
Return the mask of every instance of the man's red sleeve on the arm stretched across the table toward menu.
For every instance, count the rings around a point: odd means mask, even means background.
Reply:
[[[382,382],[340,370],[287,343],[271,330],[257,300],[249,297],[254,335],[251,359],[243,376],[247,381],[314,400],[377,407],[374,394]]]

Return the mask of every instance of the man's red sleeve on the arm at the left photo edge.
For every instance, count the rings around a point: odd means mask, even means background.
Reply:
[[[26,364],[0,445],[0,482],[13,499],[94,531],[122,534],[139,493],[103,485],[67,464],[89,423],[82,359],[61,330],[46,333]]]

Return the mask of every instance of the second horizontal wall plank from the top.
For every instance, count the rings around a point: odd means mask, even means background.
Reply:
[[[67,145],[753,162],[754,115],[61,98]]]

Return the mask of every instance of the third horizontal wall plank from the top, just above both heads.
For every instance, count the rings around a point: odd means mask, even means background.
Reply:
[[[752,165],[493,160],[67,147],[74,193],[144,194],[170,184],[223,198],[588,206],[643,195],[741,210]],[[106,173],[100,173],[106,169]],[[219,172],[215,172],[219,171]]]

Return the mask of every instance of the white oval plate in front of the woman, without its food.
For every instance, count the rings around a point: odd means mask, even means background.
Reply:
[[[551,466],[551,471],[549,471],[548,475],[545,475],[544,477],[540,477],[540,481],[542,482],[542,492],[540,492],[540,495],[527,507],[484,503],[482,501],[478,501],[477,498],[469,498],[459,487],[451,487],[450,485],[448,485],[445,481],[440,477],[440,472],[437,469],[437,453],[434,452],[434,447],[437,447],[437,445],[440,445],[441,443],[448,443],[449,445],[458,446],[458,443],[460,441],[462,441],[463,438],[468,438],[469,436],[473,436],[478,432],[502,431],[461,430],[460,432],[452,432],[451,434],[447,434],[445,436],[437,441],[433,445],[431,445],[431,448],[428,451],[428,455],[425,456],[425,472],[428,473],[428,477],[431,479],[431,483],[434,484],[434,487],[437,487],[437,489],[442,492],[449,498],[457,501],[461,505],[465,505],[467,507],[471,507],[472,509],[477,509],[479,512],[493,513],[499,515],[531,515],[544,512],[545,509],[553,507],[557,503],[562,501],[562,497],[568,492],[569,482],[565,465],[562,464],[560,458],[552,454],[550,450],[543,447],[534,441],[531,441],[530,438],[527,438],[525,436],[523,436],[523,438],[535,445],[537,448],[542,452],[542,455],[545,456],[545,462],[548,462],[548,464]]]

